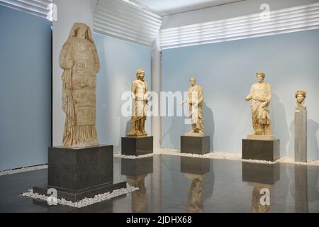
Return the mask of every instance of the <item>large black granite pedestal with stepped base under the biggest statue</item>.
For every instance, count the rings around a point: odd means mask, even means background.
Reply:
[[[91,148],[49,148],[47,187],[33,192],[47,194],[57,189],[57,198],[79,201],[96,194],[126,188],[126,182],[113,183],[113,145]]]

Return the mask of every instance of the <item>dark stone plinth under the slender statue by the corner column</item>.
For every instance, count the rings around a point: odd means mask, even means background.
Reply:
[[[153,137],[123,137],[122,155],[147,155],[153,153]]]

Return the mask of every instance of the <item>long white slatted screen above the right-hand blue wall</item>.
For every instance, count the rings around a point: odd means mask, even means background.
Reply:
[[[261,19],[260,13],[256,13],[250,16],[162,29],[159,37],[164,50],[317,28],[319,28],[319,3],[270,11],[267,21]]]

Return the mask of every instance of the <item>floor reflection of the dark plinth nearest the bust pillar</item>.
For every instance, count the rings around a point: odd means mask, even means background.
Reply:
[[[280,179],[279,163],[242,162],[242,182],[274,184]]]

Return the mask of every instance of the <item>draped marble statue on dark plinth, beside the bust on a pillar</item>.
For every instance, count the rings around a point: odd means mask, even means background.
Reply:
[[[272,100],[272,87],[264,82],[264,72],[257,72],[258,82],[252,85],[250,94],[246,97],[246,101],[251,101],[252,109],[252,128],[254,133],[248,137],[259,136],[262,138],[272,138],[272,128],[269,117],[269,104]],[[261,137],[260,137],[261,135]]]

